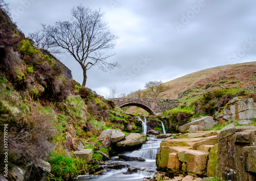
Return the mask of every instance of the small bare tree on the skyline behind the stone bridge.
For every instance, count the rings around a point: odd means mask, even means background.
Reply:
[[[162,81],[150,81],[145,83],[146,94],[150,97],[158,97],[161,92],[169,89],[168,86],[165,86]]]

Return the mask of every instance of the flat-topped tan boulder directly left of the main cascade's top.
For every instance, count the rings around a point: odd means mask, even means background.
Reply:
[[[140,133],[131,133],[125,137],[123,141],[119,141],[116,143],[118,147],[126,147],[126,146],[139,146],[146,142],[146,135]]]

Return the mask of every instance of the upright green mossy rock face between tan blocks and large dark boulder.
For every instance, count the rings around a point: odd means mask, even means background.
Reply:
[[[217,157],[218,144],[214,145],[210,150],[209,159],[207,162],[207,176],[216,176]]]

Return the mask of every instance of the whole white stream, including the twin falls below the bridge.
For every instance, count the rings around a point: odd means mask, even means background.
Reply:
[[[142,133],[147,133],[146,118],[144,121],[138,117],[138,120],[142,122]],[[162,122],[162,121],[161,121]],[[165,134],[164,125],[163,131]],[[141,157],[145,159],[144,162],[138,161],[121,161],[115,160],[118,157],[111,157],[110,161],[105,162],[105,166],[108,169],[104,169],[101,175],[80,175],[75,178],[77,181],[113,181],[113,180],[133,180],[133,181],[143,181],[144,177],[154,177],[157,172],[156,166],[156,154],[159,152],[160,143],[163,139],[157,139],[156,136],[147,137],[147,141],[141,146],[140,149],[134,151],[120,152],[125,156],[130,157]],[[120,169],[110,169],[110,165],[120,164],[122,168]],[[104,165],[103,165],[104,167]],[[124,167],[124,168],[123,168]],[[138,168],[137,172],[126,174],[128,168]]]

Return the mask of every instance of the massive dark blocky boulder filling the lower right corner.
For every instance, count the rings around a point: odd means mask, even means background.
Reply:
[[[229,124],[217,135],[217,175],[225,180],[254,180],[256,127]]]

